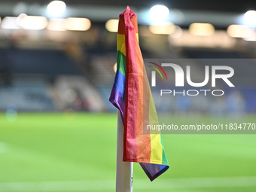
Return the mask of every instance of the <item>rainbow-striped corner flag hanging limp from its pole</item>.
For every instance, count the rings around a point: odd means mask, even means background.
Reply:
[[[143,133],[159,124],[138,40],[136,14],[127,6],[119,16],[117,72],[109,101],[123,120],[123,161],[138,162],[151,181],[169,168],[160,134]]]

